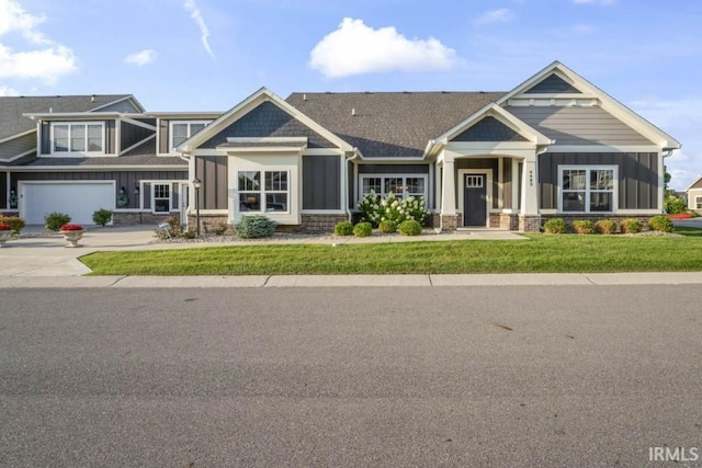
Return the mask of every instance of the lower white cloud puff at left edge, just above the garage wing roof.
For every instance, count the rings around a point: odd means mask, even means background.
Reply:
[[[75,70],[76,57],[68,47],[57,45],[14,53],[0,44],[0,78],[37,78],[54,82]]]

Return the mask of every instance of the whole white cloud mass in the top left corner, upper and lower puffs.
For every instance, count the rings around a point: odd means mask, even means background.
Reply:
[[[54,82],[76,70],[73,52],[48,39],[36,28],[44,20],[44,15],[24,11],[16,0],[0,0],[0,36],[18,32],[33,46],[30,50],[15,52],[0,43],[0,78]]]

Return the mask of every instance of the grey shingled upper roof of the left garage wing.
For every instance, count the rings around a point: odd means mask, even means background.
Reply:
[[[36,128],[23,114],[43,112],[88,112],[131,94],[46,95],[0,98],[0,139]]]

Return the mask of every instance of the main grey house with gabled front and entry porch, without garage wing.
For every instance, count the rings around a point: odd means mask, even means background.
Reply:
[[[555,61],[509,92],[260,89],[177,148],[200,219],[330,230],[371,190],[423,196],[443,230],[663,213],[680,144]],[[194,221],[190,204],[190,222]]]

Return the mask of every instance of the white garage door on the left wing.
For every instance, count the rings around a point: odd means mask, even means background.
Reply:
[[[30,183],[20,182],[20,216],[27,225],[43,225],[44,216],[59,212],[71,222],[92,225],[95,209],[114,209],[113,182]]]

